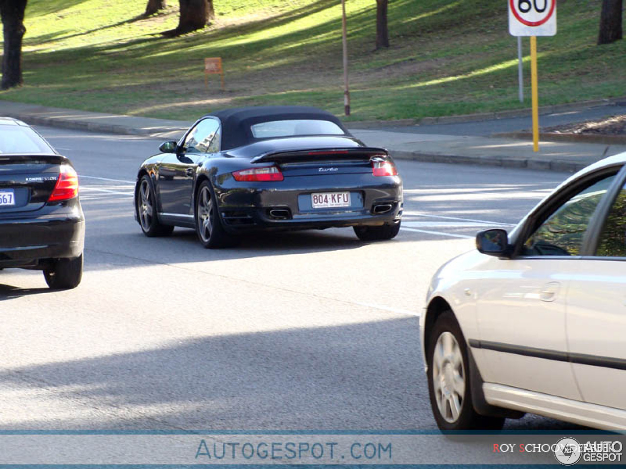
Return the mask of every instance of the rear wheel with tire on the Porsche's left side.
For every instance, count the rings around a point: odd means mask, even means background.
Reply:
[[[208,181],[202,181],[195,198],[196,233],[198,240],[205,248],[227,248],[235,245],[237,240],[224,230],[215,200],[211,184]]]

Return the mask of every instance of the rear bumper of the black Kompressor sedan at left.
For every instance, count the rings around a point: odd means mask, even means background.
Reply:
[[[85,245],[85,218],[72,213],[0,219],[0,268],[44,266],[57,258],[75,258]]]

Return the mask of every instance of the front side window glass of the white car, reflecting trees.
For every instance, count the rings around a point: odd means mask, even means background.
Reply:
[[[526,256],[577,256],[589,220],[615,175],[601,179],[579,192],[555,211],[526,240]]]

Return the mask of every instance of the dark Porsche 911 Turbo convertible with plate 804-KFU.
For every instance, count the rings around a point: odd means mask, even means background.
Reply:
[[[402,179],[330,113],[300,106],[224,109],[167,141],[137,174],[146,236],[195,228],[206,248],[255,229],[352,226],[361,240],[398,234]]]

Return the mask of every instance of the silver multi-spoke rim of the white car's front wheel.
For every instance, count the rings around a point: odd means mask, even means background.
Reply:
[[[448,423],[457,421],[465,397],[463,355],[456,338],[447,331],[434,346],[433,390],[441,416]]]

